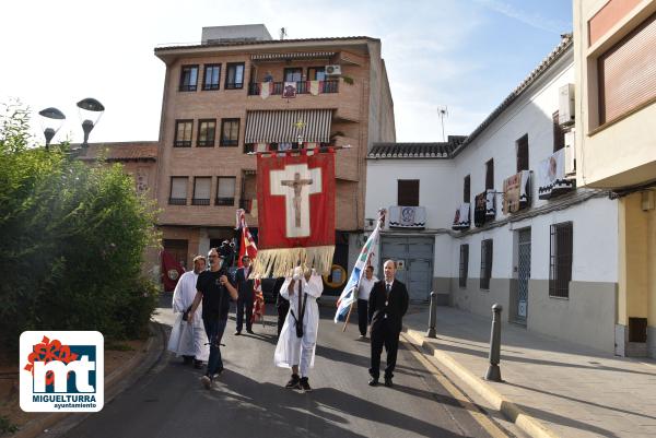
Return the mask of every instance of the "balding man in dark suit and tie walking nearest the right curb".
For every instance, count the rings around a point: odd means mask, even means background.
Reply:
[[[374,284],[368,303],[368,318],[372,322],[372,367],[370,368],[372,378],[368,384],[372,387],[378,384],[383,345],[387,351],[385,386],[391,387],[393,384],[391,378],[396,367],[399,335],[409,301],[406,285],[395,279],[396,262],[387,260],[384,271],[385,277]]]

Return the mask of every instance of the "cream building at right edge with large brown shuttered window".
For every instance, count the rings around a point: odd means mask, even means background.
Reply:
[[[656,357],[656,1],[574,0],[576,181],[618,199],[616,353]]]

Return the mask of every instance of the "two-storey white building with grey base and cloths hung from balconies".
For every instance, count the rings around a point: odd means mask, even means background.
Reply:
[[[377,269],[401,260],[413,298],[485,316],[499,303],[506,321],[612,353],[618,203],[574,187],[573,83],[567,35],[468,138],[374,144],[365,217],[390,211]]]

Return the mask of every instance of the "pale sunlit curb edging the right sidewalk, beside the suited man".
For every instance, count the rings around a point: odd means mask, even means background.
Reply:
[[[470,370],[460,365],[448,354],[435,348],[424,340],[424,333],[411,330],[403,325],[403,332],[410,338],[410,342],[418,344],[425,354],[433,356],[441,365],[448,368],[460,380],[465,381],[480,396],[485,399],[496,411],[501,412],[507,419],[513,422],[523,431],[534,438],[558,438],[559,435],[546,427],[540,421],[522,411],[515,403],[503,396],[482,378],[475,376]]]

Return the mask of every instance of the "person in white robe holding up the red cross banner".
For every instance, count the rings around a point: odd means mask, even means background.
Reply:
[[[278,338],[273,362],[276,366],[292,368],[292,379],[285,388],[312,391],[307,374],[314,366],[319,329],[317,298],[323,292],[321,276],[314,270],[303,273],[300,267],[280,288],[282,297],[290,301],[290,310]]]

